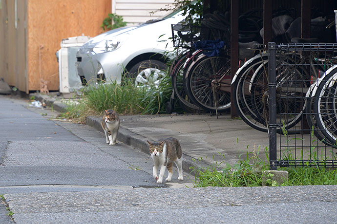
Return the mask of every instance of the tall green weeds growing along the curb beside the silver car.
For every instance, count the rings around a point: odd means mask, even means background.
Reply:
[[[113,109],[119,114],[157,114],[165,112],[165,104],[172,92],[171,78],[164,76],[159,85],[152,83],[136,87],[134,80],[128,79],[123,85],[116,81],[89,85],[82,90],[82,98],[77,104],[67,103],[66,112],[59,118],[73,119],[84,123],[89,115],[101,116],[104,110]]]

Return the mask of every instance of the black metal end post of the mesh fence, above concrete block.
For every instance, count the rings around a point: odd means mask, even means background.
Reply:
[[[268,43],[268,76],[269,76],[269,166],[276,170],[276,43]]]

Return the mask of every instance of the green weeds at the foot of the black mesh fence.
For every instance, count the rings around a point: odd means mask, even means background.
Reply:
[[[309,152],[307,152],[309,153]],[[234,165],[226,164],[224,168],[219,164],[206,168],[191,167],[196,171],[194,187],[257,187],[262,186],[262,171],[269,170],[268,149],[265,149],[266,158],[259,157],[259,150],[247,152],[245,158],[238,160]],[[282,159],[293,160],[294,155],[289,150],[287,157]],[[301,155],[303,156],[303,155]],[[281,186],[303,186],[303,185],[337,185],[337,170],[333,168],[318,167],[317,152],[310,155],[312,163],[307,162],[305,167],[279,168],[288,171],[288,181]],[[324,159],[320,158],[324,163]],[[202,157],[199,158],[202,160]],[[268,174],[270,176],[274,174]],[[267,186],[278,186],[275,181],[267,179]]]

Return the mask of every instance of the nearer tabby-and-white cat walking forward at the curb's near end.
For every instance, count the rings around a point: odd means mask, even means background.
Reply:
[[[166,168],[169,170],[169,176],[166,178],[166,181],[171,181],[173,163],[175,163],[178,168],[178,180],[183,180],[183,153],[179,141],[175,138],[166,138],[158,142],[150,142],[147,140],[147,143],[154,164],[153,178],[157,183],[163,183]],[[157,171],[159,166],[160,173],[158,178]]]

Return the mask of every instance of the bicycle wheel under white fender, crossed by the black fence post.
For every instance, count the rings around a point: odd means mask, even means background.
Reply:
[[[287,67],[283,66],[286,63]],[[302,97],[307,91],[303,73],[295,68],[295,61],[284,55],[276,56],[276,97],[279,126],[285,121],[285,129],[297,124],[305,109],[305,102],[296,101],[295,96]],[[268,55],[254,56],[240,68],[233,83],[234,105],[240,117],[251,127],[259,131],[268,131],[269,121],[269,87]],[[289,114],[295,114],[290,117]],[[280,128],[277,130],[280,132]]]

